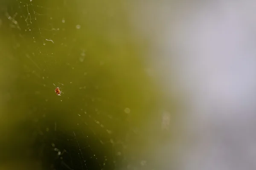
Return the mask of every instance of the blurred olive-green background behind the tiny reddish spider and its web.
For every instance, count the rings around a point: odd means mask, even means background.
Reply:
[[[157,146],[174,142],[163,115],[170,131],[177,106],[148,74],[153,43],[133,26],[135,5],[2,2],[0,169],[159,166]]]

